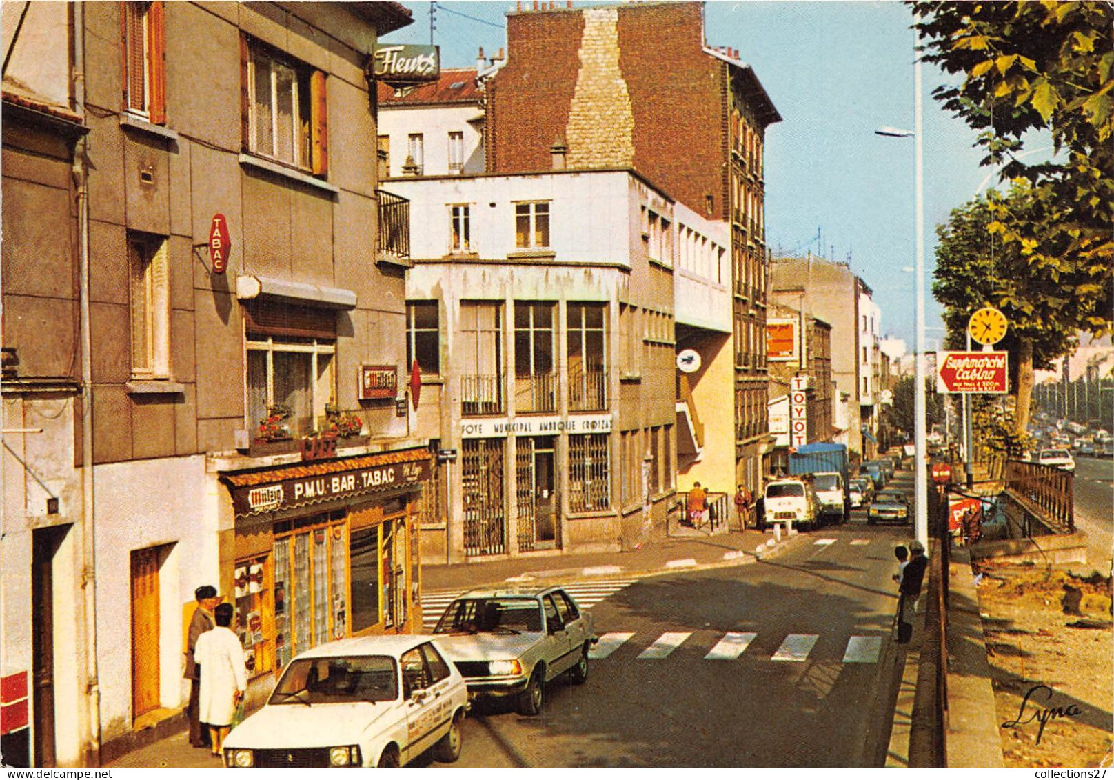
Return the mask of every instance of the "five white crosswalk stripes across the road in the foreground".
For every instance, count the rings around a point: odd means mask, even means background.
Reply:
[[[609,657],[635,636],[634,632],[608,632],[603,634],[599,637],[599,642],[589,651],[588,657],[595,660]],[[646,645],[637,654],[636,659],[649,661],[667,659],[674,651],[688,642],[692,636],[693,632],[667,631]],[[704,660],[734,661],[740,659],[746,653],[746,650],[758,636],[756,632],[727,632],[715,642],[711,651],[704,655]],[[851,636],[847,641],[842,663],[878,663],[883,638],[878,634]],[[813,657],[813,651],[819,640],[820,634],[788,634],[772,655],[763,655],[762,657],[769,661],[789,663],[815,661],[818,659]],[[746,653],[746,656],[754,655],[754,653]]]

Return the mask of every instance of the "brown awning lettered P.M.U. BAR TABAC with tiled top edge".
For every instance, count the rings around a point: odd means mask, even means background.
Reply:
[[[417,489],[429,479],[424,448],[361,455],[256,471],[222,474],[237,518],[285,511],[387,490]]]

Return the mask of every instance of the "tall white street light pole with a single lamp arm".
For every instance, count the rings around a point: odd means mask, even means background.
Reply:
[[[917,16],[916,22],[920,21]],[[926,401],[925,398],[925,126],[921,101],[920,75],[920,33],[913,25],[913,129],[899,127],[879,127],[874,130],[880,136],[890,138],[912,137],[916,144],[916,187],[917,187],[917,261],[913,274],[916,276],[916,320],[917,339],[915,343],[916,370],[913,371],[913,486],[916,495],[916,514],[913,515],[915,535],[918,542],[928,544],[928,446],[926,436]]]

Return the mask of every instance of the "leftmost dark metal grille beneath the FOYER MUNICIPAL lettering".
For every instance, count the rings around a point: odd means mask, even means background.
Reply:
[[[460,446],[465,508],[465,555],[506,549],[504,516],[505,439],[465,439]]]

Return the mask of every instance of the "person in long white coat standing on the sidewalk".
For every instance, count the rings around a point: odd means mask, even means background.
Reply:
[[[197,640],[195,655],[204,674],[201,684],[199,713],[208,725],[213,754],[221,754],[221,745],[232,728],[232,715],[247,690],[247,666],[240,637],[229,628],[235,608],[218,604],[213,611],[216,627]]]

